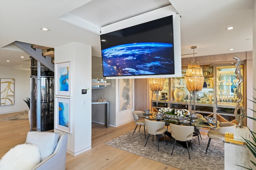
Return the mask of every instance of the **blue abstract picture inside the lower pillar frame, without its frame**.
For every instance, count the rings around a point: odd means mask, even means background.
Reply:
[[[69,103],[58,102],[59,104],[59,125],[69,127]]]

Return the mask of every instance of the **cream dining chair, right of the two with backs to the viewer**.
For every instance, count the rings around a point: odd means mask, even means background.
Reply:
[[[188,156],[190,159],[188,141],[190,141],[191,150],[193,150],[191,139],[193,138],[194,126],[185,126],[185,125],[183,126],[183,125],[175,125],[175,124],[170,123],[170,129],[172,131],[172,137],[174,138],[172,152],[174,150],[176,141],[186,142],[186,146],[188,149]]]

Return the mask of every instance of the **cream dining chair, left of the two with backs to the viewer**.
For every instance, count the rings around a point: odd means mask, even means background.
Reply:
[[[166,145],[168,145],[166,135],[165,135],[167,128],[165,128],[165,123],[163,121],[152,121],[152,120],[145,119],[145,125],[148,130],[148,138],[150,135],[153,135],[153,140],[154,140],[154,135],[156,135],[158,151],[159,151],[159,135],[164,134]],[[146,147],[148,138],[146,140],[144,147]]]

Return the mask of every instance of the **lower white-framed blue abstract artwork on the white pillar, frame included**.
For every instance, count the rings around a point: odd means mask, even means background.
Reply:
[[[55,98],[55,128],[71,133],[71,99]]]

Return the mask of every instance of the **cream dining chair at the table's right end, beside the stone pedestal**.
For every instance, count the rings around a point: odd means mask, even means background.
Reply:
[[[234,132],[234,125],[236,125],[236,123],[220,122],[220,127],[218,128],[218,130],[208,131],[207,135],[209,137],[209,141],[208,141],[208,145],[207,145],[205,154],[207,153],[207,150],[208,150],[208,147],[210,145],[211,139],[217,139],[217,140],[220,140],[220,141],[224,141],[226,132],[230,132],[230,133]]]

